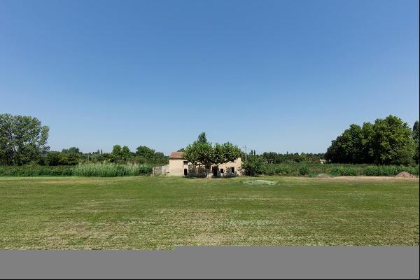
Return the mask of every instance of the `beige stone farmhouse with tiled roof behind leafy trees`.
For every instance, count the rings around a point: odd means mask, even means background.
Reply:
[[[242,175],[241,158],[233,162],[226,162],[211,167],[211,177],[233,177]],[[169,165],[153,168],[154,175],[167,176],[206,176],[206,169],[202,165],[193,165],[183,158],[183,152],[172,152],[169,155]]]

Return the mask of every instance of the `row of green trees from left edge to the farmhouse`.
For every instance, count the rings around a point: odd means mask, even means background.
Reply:
[[[71,147],[50,151],[49,127],[31,116],[0,114],[0,165],[77,165],[80,162],[167,163],[168,157],[152,148],[139,146],[135,152],[127,146],[113,146],[111,153],[82,153]]]

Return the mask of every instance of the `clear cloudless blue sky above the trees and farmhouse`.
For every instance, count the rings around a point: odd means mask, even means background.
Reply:
[[[1,0],[0,97],[56,151],[324,152],[419,118],[419,2]]]

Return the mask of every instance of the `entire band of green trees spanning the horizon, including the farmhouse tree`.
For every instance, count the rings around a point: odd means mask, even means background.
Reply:
[[[49,127],[31,116],[13,116],[0,114],[0,165],[26,165],[31,162],[39,165],[76,165],[79,162],[137,162],[162,163],[168,157],[147,146],[139,146],[130,151],[127,146],[115,145],[111,153],[81,153],[71,147],[59,151],[50,151],[47,144]],[[376,165],[412,165],[419,163],[419,121],[412,129],[407,123],[395,116],[377,119],[372,123],[350,125],[342,135],[332,141],[323,153],[274,153],[265,152],[257,155],[255,150],[249,153],[250,164],[263,163],[319,162],[325,159],[336,163],[367,163]],[[207,167],[235,160],[244,153],[232,144],[212,145],[203,132],[197,141],[181,148],[190,162],[201,162]],[[255,159],[255,160],[254,160]]]

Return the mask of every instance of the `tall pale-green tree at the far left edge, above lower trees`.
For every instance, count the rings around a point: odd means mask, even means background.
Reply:
[[[50,148],[48,132],[37,118],[0,114],[0,164],[40,162]]]

